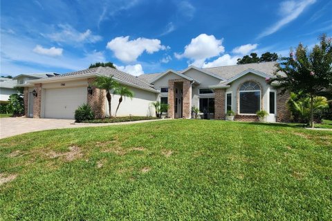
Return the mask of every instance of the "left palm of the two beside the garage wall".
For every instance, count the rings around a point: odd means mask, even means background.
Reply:
[[[109,118],[111,118],[111,90],[116,90],[118,88],[119,84],[117,81],[115,81],[112,77],[106,77],[106,76],[99,76],[95,79],[93,82],[93,86],[96,88],[100,88],[101,90],[106,90],[106,98],[107,102],[109,102]]]

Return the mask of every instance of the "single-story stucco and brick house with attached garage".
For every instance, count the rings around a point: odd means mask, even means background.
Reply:
[[[26,116],[73,119],[75,109],[90,104],[96,117],[108,114],[105,91],[92,87],[95,77],[113,76],[135,94],[120,105],[118,116],[154,116],[151,103],[168,104],[168,117],[191,118],[192,106],[208,112],[210,119],[225,119],[227,110],[236,113],[235,119],[256,121],[256,112],[269,113],[268,122],[288,122],[286,108],[289,95],[281,95],[273,85],[266,84],[273,77],[275,62],[242,64],[214,68],[166,70],[164,73],[135,77],[109,67],[90,68],[64,75],[53,75],[27,81],[24,88]],[[90,91],[90,92],[89,92]],[[35,92],[35,95],[33,95]],[[112,113],[118,104],[112,95]]]

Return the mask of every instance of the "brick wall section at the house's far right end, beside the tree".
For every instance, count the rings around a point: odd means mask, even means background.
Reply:
[[[291,111],[288,110],[287,102],[291,94],[286,91],[284,94],[277,91],[277,122],[290,122]]]

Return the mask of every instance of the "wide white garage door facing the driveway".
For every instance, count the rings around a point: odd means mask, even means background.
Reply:
[[[78,106],[86,103],[86,87],[45,90],[45,118],[74,119]]]

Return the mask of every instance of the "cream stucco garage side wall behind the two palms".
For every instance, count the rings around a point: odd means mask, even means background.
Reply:
[[[141,90],[139,88],[129,87],[130,90],[133,91],[134,97],[130,99],[129,97],[123,97],[120,104],[120,108],[117,116],[155,116],[155,110],[152,107],[151,103],[155,102],[158,94],[152,93],[147,90]],[[119,103],[119,95],[113,95],[111,99],[111,114],[114,115],[116,113],[116,107]],[[109,104],[106,101],[106,113],[109,113]]]

